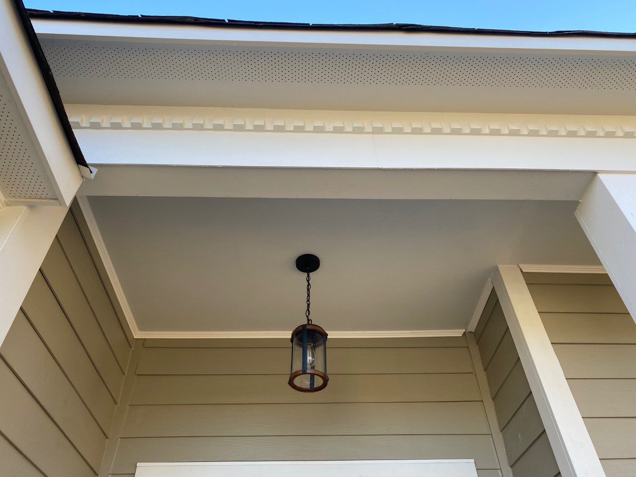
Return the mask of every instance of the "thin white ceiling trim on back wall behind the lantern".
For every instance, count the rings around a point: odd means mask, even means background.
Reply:
[[[464,329],[397,329],[387,331],[330,331],[330,338],[426,338],[462,336]],[[137,331],[135,338],[289,338],[285,331]]]

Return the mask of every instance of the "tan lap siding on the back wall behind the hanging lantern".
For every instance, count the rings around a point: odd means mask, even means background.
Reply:
[[[329,385],[306,394],[287,385],[288,340],[146,340],[111,473],[155,461],[472,458],[481,476],[499,475],[464,336],[329,345]]]

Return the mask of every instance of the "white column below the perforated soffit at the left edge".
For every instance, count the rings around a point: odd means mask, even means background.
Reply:
[[[0,343],[67,211],[46,205],[0,209]]]

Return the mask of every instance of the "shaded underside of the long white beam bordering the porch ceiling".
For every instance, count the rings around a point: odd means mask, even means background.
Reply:
[[[81,195],[579,200],[591,172],[98,165]]]

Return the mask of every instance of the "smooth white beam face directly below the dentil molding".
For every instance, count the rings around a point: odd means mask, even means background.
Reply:
[[[95,165],[636,172],[636,139],[76,129]]]

